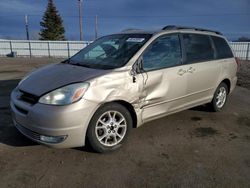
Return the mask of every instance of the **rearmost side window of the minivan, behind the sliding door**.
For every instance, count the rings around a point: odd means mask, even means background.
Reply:
[[[217,51],[217,59],[231,58],[233,53],[225,39],[212,36]]]

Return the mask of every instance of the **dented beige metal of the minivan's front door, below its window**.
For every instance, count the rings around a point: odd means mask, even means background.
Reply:
[[[164,116],[178,109],[185,100],[187,77],[179,75],[183,66],[150,71],[143,86],[142,119],[143,122]]]

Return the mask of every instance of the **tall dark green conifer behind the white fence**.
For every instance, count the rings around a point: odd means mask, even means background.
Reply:
[[[40,26],[40,40],[65,40],[63,20],[53,0],[48,0],[48,6],[40,22]]]

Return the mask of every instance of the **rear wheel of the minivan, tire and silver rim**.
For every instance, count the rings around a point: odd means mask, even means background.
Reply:
[[[214,97],[210,103],[211,109],[214,112],[218,112],[223,109],[227,102],[228,87],[222,82],[215,90]]]

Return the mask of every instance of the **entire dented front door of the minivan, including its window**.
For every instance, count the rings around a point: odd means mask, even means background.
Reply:
[[[178,109],[186,96],[187,78],[182,72],[178,34],[157,38],[142,54],[141,108],[143,121]]]

